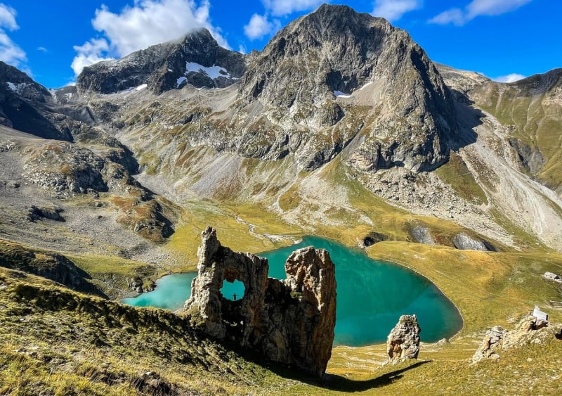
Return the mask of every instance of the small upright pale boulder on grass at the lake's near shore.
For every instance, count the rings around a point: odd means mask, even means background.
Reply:
[[[386,353],[392,362],[417,359],[421,329],[416,315],[402,315],[386,339]]]

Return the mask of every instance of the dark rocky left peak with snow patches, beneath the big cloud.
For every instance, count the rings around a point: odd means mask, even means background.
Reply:
[[[211,78],[205,72],[188,72],[187,63],[198,63],[205,68],[218,66],[226,73]],[[150,46],[119,60],[91,65],[77,79],[79,91],[111,94],[141,84],[155,94],[181,86],[187,78],[195,87],[228,87],[244,72],[244,56],[218,46],[208,30],[194,30],[179,41]]]

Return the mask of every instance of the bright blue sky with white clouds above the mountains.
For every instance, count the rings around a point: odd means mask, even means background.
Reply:
[[[263,49],[317,0],[0,0],[0,60],[46,87],[84,65],[207,27],[235,51]],[[562,67],[562,1],[348,0],[408,32],[436,62],[516,79]],[[506,77],[510,76],[510,77]]]

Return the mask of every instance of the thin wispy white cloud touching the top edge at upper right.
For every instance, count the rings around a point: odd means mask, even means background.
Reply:
[[[453,25],[462,26],[477,16],[502,15],[514,11],[531,1],[532,0],[472,0],[464,10],[451,8],[431,18],[429,23],[436,23],[438,25],[448,25],[452,23]]]

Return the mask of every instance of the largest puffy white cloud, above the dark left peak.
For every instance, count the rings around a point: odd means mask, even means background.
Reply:
[[[104,37],[75,46],[78,54],[72,69],[78,75],[81,68],[96,61],[126,56],[200,27],[206,27],[219,45],[230,48],[220,30],[211,24],[209,8],[209,0],[198,4],[195,0],[135,0],[134,6],[127,6],[120,13],[102,6],[96,10],[92,25]],[[100,46],[99,40],[105,41],[107,48]]]

